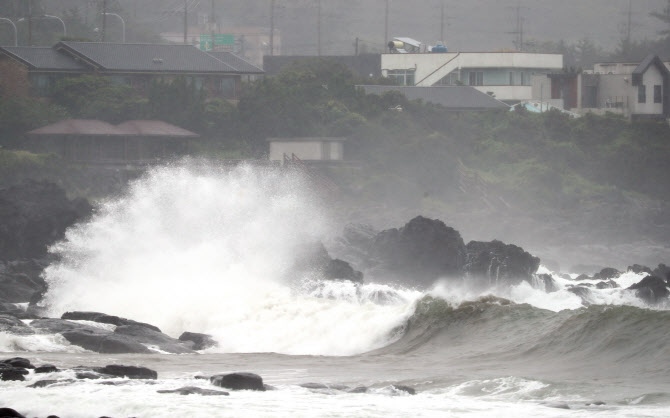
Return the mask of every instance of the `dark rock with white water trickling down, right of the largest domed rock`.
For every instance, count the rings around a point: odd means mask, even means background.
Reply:
[[[470,241],[463,270],[469,277],[483,279],[484,284],[498,285],[530,282],[538,267],[540,259],[523,248],[494,240]]]

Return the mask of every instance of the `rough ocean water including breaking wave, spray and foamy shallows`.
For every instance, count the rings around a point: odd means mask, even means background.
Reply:
[[[301,245],[335,232],[328,208],[298,176],[193,165],[152,171],[52,248],[61,261],[45,272],[48,313],[105,312],[175,337],[208,333],[219,346],[107,355],[58,335],[0,333],[0,358],[159,374],[149,383],[28,388],[74,377],[31,372],[25,382],[0,382],[0,406],[61,417],[670,415],[670,312],[625,290],[641,275],[591,288],[585,301],[558,275],[547,292],[539,280],[478,291],[443,280],[416,290],[290,274]],[[275,390],[157,393],[213,388],[195,376],[233,371],[258,373]],[[367,392],[349,392],[360,386]]]

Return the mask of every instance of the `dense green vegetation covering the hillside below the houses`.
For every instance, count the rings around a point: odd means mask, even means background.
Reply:
[[[356,83],[346,68],[315,59],[245,85],[235,106],[206,100],[183,79],[140,95],[83,76],[62,80],[50,104],[3,99],[0,131],[5,147],[20,148],[20,133],[65,117],[155,118],[201,134],[192,151],[213,158],[265,158],[270,136],[346,136],[346,157],[360,168],[329,174],[355,205],[447,214],[513,208],[538,218],[577,211],[597,222],[664,222],[668,213],[665,123],[557,111],[453,113],[398,93],[365,95]],[[18,173],[33,164],[52,175],[52,159],[8,152],[0,157],[23,167]],[[11,171],[0,175],[16,177]]]

